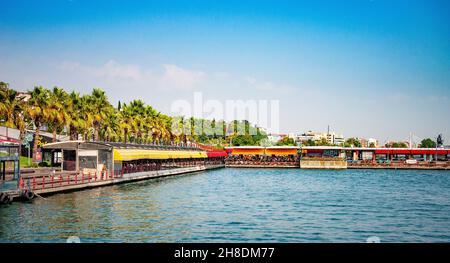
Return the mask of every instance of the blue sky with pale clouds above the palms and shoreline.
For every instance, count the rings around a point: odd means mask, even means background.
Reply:
[[[0,79],[277,99],[283,132],[450,139],[448,1],[1,1]]]

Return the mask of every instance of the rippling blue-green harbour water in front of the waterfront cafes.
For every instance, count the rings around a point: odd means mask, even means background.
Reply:
[[[0,242],[450,242],[450,172],[221,169],[0,207]]]

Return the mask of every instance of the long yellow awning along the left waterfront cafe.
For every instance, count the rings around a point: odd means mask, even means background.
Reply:
[[[114,149],[114,161],[132,161],[142,159],[189,159],[207,158],[204,151],[167,151],[167,150],[144,150],[144,149]]]

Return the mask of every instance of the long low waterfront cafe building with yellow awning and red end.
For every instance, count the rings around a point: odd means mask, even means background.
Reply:
[[[62,171],[123,175],[164,168],[220,164],[225,151],[196,147],[67,141],[42,147],[43,160]]]

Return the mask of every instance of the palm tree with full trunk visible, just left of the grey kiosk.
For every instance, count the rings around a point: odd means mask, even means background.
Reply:
[[[28,116],[35,127],[34,143],[33,143],[33,157],[36,158],[38,151],[38,144],[40,143],[39,131],[41,126],[47,122],[49,117],[49,101],[50,93],[42,86],[35,87],[31,91],[31,98],[28,100]]]

